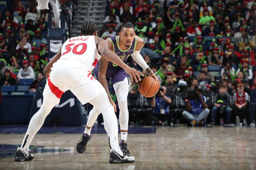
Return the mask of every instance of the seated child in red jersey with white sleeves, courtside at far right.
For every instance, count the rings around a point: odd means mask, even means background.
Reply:
[[[247,92],[244,92],[244,84],[238,83],[236,89],[237,92],[233,95],[236,125],[240,125],[240,120],[243,120],[243,125],[247,126],[245,115],[249,97]]]

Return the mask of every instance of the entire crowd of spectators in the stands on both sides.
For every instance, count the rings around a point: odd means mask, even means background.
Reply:
[[[16,85],[22,78],[38,77],[29,89],[34,92],[48,63],[49,11],[37,10],[36,0],[23,2],[13,0],[14,5],[0,11],[0,83]],[[68,11],[67,1],[61,0],[60,8]],[[141,55],[164,89],[151,102],[158,114],[148,115],[153,124],[173,118],[168,115],[172,99],[165,94],[179,96],[184,91],[191,96],[193,91],[194,97],[186,99],[187,111],[180,113],[191,124],[199,124],[205,116],[214,124],[221,113],[226,123],[250,121],[255,126],[255,12],[252,0],[110,0],[99,34],[103,39],[118,35],[122,24],[130,22],[143,38]],[[143,72],[132,57],[128,64]],[[215,94],[210,113],[202,90]],[[130,83],[130,92],[138,93],[135,83]],[[229,95],[233,106],[228,104]],[[244,110],[250,115],[241,115]]]

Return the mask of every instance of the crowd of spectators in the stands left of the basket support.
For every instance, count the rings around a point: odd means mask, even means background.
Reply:
[[[37,10],[36,0],[11,0],[9,4],[0,11],[0,86],[34,79],[28,91],[35,92],[42,86],[42,71],[48,63],[50,10]],[[69,13],[68,1],[60,0],[60,8]]]

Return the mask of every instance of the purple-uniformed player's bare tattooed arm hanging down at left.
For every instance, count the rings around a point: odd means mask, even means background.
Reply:
[[[116,104],[111,98],[111,95],[110,95],[109,90],[108,90],[108,82],[107,82],[107,79],[106,79],[106,72],[107,72],[107,68],[108,68],[108,60],[101,57],[99,62],[100,63],[99,63],[98,75],[99,75],[100,84],[104,87],[105,91],[107,92],[108,99],[109,99],[111,105],[114,107],[115,112],[116,112]]]

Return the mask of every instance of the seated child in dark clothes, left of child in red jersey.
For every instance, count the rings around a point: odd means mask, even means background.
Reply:
[[[217,114],[221,117],[226,117],[226,122],[230,123],[231,109],[229,107],[230,98],[226,92],[226,87],[220,85],[219,93],[215,95],[214,107],[212,109],[212,125],[215,123],[215,118]],[[225,114],[225,115],[224,115]]]

